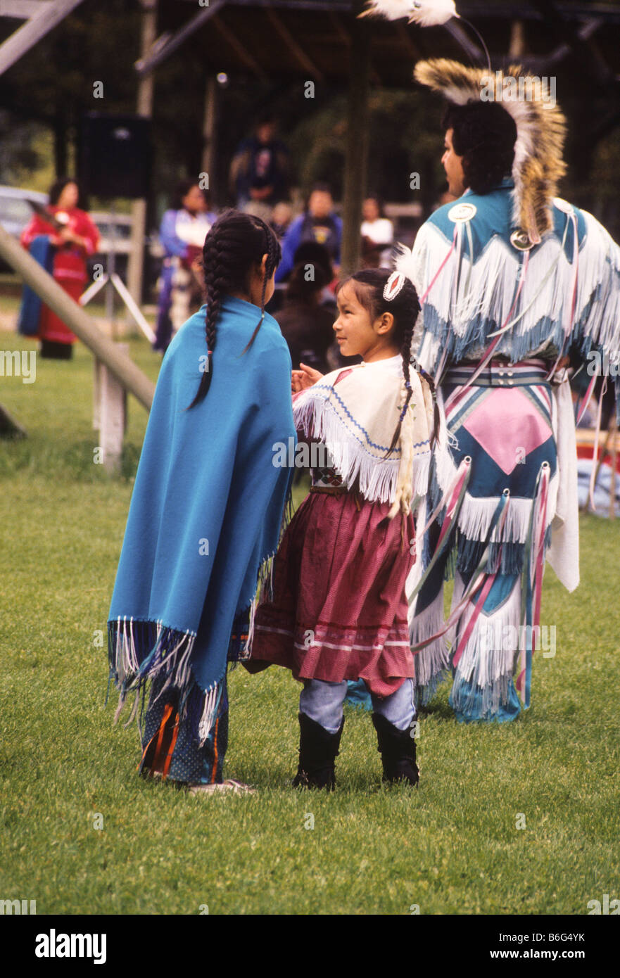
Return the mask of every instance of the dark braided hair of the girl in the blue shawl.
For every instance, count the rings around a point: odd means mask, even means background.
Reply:
[[[250,336],[243,354],[254,342],[265,318],[265,293],[267,283],[280,264],[282,250],[272,229],[259,217],[244,214],[242,211],[225,210],[209,230],[202,247],[202,270],[206,302],[204,332],[206,334],[207,362],[200,378],[196,397],[190,404],[193,408],[206,397],[213,374],[213,350],[215,349],[215,326],[220,312],[223,295],[246,292],[252,265],[259,265],[262,256],[267,255],[267,267],[263,278],[260,299],[261,316],[256,329]]]

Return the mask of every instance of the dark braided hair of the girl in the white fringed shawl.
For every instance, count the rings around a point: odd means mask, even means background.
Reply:
[[[358,302],[364,306],[371,317],[372,323],[384,312],[391,312],[394,317],[394,329],[391,338],[394,345],[400,349],[400,355],[403,359],[406,397],[398,424],[394,431],[392,443],[386,455],[390,455],[398,444],[403,419],[407,413],[407,408],[409,407],[413,393],[410,373],[411,342],[416,320],[420,312],[418,293],[410,279],[405,279],[402,289],[393,298],[384,298],[383,289],[390,275],[391,271],[386,268],[365,269],[362,272],[356,272],[355,275],[351,275],[348,279],[344,279],[339,283],[337,289],[339,291],[342,286],[350,282],[353,285]]]

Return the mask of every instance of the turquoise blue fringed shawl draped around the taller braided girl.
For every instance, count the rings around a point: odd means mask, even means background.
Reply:
[[[278,546],[291,469],[274,443],[294,438],[290,356],[260,309],[225,296],[209,391],[186,410],[206,361],[205,306],[161,364],[111,599],[111,678],[126,693],[155,676],[178,692],[199,741],[211,723],[233,624]],[[137,708],[137,699],[135,708]]]

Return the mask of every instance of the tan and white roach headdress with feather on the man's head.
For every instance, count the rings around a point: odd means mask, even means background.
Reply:
[[[459,17],[452,0],[369,0],[366,14],[389,21],[407,17],[409,22],[421,26]],[[551,230],[550,203],[566,170],[562,159],[566,121],[549,100],[543,80],[524,73],[518,65],[511,65],[506,72],[493,72],[490,65],[465,67],[445,58],[419,62],[414,77],[457,106],[470,101],[496,101],[512,116],[516,124],[512,219],[532,244],[539,244],[541,235]],[[505,83],[505,79],[510,80]],[[519,84],[525,89],[526,98],[519,97]]]

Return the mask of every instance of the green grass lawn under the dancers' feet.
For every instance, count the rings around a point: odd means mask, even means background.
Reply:
[[[158,357],[131,345],[155,379]],[[239,668],[226,774],[259,792],[188,796],[138,778],[137,731],[104,707],[98,630],[146,412],[130,399],[124,477],[111,479],[93,464],[81,344],[72,362],[39,359],[35,383],[0,378],[0,402],[29,435],[0,442],[3,898],[39,914],[584,914],[620,897],[620,520],[582,517],[575,593],[547,569],[556,654],[535,655],[526,714],[461,726],[441,690],[421,722],[418,791],[381,786],[370,714],[353,709],[335,794],[292,790],[299,687]]]

